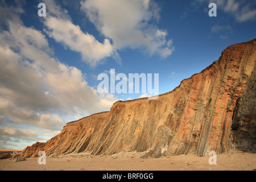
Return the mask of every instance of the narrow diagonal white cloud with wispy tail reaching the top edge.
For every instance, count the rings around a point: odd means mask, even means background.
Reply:
[[[44,0],[44,2],[49,8],[43,22],[51,38],[72,51],[79,52],[82,60],[91,67],[101,64],[106,57],[114,57],[119,63],[118,53],[109,39],[104,39],[103,43],[98,42],[93,35],[84,33],[79,25],[73,24],[68,11],[56,5],[55,1]]]

